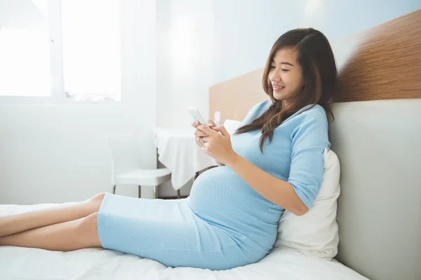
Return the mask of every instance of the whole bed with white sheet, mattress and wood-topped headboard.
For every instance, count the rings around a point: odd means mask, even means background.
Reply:
[[[165,267],[101,248],[0,247],[0,279],[421,279],[421,10],[332,42],[341,90],[332,150],[341,164],[339,253],[274,248],[225,271]],[[262,69],[210,87],[210,116],[241,120],[264,100]],[[51,204],[0,205],[0,215]]]

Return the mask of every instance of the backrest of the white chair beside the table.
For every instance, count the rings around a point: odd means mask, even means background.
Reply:
[[[108,135],[112,162],[112,183],[119,174],[140,168],[138,147],[133,134]]]

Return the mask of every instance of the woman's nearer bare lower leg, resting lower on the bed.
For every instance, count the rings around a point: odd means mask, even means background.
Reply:
[[[0,246],[43,248],[51,251],[73,251],[81,248],[101,247],[97,217],[98,213],[94,213],[75,221],[0,237]]]

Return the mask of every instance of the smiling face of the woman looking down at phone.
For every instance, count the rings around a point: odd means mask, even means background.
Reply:
[[[288,104],[292,97],[300,94],[302,69],[297,62],[295,48],[283,47],[275,53],[268,78],[276,100],[283,100],[284,104]]]

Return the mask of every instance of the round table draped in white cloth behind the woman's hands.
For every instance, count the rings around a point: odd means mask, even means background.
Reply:
[[[171,183],[180,190],[196,172],[217,166],[216,160],[201,151],[194,140],[194,128],[185,130],[156,127],[154,132],[158,160],[171,170]]]

